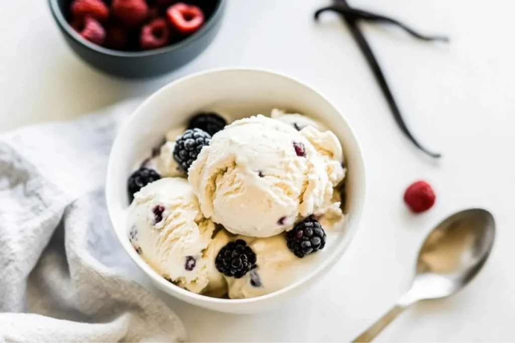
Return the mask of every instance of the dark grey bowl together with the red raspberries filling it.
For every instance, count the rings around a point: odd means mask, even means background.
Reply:
[[[66,42],[107,74],[149,78],[197,57],[214,39],[225,0],[48,0]]]

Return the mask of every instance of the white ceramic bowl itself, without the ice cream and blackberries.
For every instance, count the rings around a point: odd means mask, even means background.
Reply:
[[[198,295],[171,284],[136,254],[126,231],[129,206],[127,178],[148,156],[169,129],[187,123],[192,114],[213,110],[234,119],[268,115],[277,107],[315,118],[330,128],[344,147],[348,167],[348,223],[324,254],[325,258],[304,278],[265,296],[250,299],[218,299]],[[116,236],[127,254],[164,292],[204,308],[255,313],[279,306],[318,281],[341,257],[358,228],[365,200],[365,170],[354,132],[342,114],[313,88],[290,77],[256,69],[219,69],[194,74],[172,82],[150,96],[127,119],[118,133],[109,158],[106,184],[107,207]]]

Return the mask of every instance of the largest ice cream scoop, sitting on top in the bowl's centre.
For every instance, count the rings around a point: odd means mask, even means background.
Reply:
[[[300,132],[259,115],[215,134],[188,180],[206,218],[235,234],[270,237],[331,206],[331,180],[342,174],[328,170]]]

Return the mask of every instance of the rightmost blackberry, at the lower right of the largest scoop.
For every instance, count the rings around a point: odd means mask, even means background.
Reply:
[[[295,256],[302,258],[323,249],[326,238],[320,223],[310,215],[286,233],[286,245]]]

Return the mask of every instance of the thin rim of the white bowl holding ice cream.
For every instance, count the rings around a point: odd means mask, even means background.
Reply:
[[[361,185],[362,194],[361,194],[361,196],[359,196],[359,202],[356,206],[356,211],[353,212],[354,224],[352,225],[352,227],[347,226],[347,228],[346,228],[347,232],[345,233],[345,236],[344,236],[344,239],[348,240],[347,246],[352,242],[352,240],[356,234],[356,231],[359,227],[359,221],[361,220],[361,216],[363,214],[363,209],[364,209],[364,205],[365,205],[365,197],[366,197],[366,188],[367,187],[366,187],[365,160],[364,160],[364,156],[363,156],[363,150],[361,148],[361,145],[359,144],[359,141],[357,139],[354,129],[349,124],[349,121],[346,119],[345,115],[340,110],[338,110],[338,107],[336,107],[334,105],[334,103],[332,103],[327,97],[325,97],[322,93],[320,93],[316,88],[314,88],[310,85],[307,85],[306,83],[298,80],[297,78],[291,77],[287,74],[284,74],[284,73],[281,73],[278,71],[273,71],[270,69],[265,69],[265,68],[239,67],[239,66],[238,67],[221,67],[221,68],[212,68],[212,69],[202,70],[202,71],[198,71],[197,73],[193,73],[193,74],[184,76],[182,78],[179,78],[175,81],[172,81],[172,82],[162,86],[156,92],[154,92],[153,94],[148,96],[140,105],[138,105],[138,107],[136,107],[136,109],[130,114],[130,116],[125,119],[125,122],[121,125],[121,128],[118,130],[118,133],[113,142],[111,152],[109,154],[108,168],[107,168],[107,175],[106,175],[107,176],[106,177],[106,205],[107,205],[107,209],[108,209],[108,213],[109,213],[109,218],[110,218],[110,221],[112,224],[111,225],[112,229],[115,231],[118,241],[121,243],[121,245],[123,246],[123,248],[125,249],[127,254],[132,259],[132,261],[136,265],[138,265],[138,267],[142,270],[142,272],[148,278],[150,278],[154,282],[157,282],[162,288],[169,290],[169,292],[167,292],[169,295],[171,295],[170,293],[174,293],[174,294],[179,294],[181,296],[184,296],[186,298],[191,298],[195,304],[210,303],[212,305],[238,306],[238,305],[252,304],[252,303],[256,303],[256,302],[259,303],[259,302],[270,301],[273,298],[280,298],[284,294],[294,291],[296,288],[307,283],[308,281],[323,275],[324,271],[329,270],[341,258],[342,254],[346,250],[345,246],[332,251],[330,255],[325,257],[325,259],[323,259],[319,263],[319,265],[316,266],[316,268],[311,270],[305,276],[295,280],[295,282],[287,285],[284,288],[281,288],[281,290],[278,290],[278,291],[275,291],[275,292],[272,292],[272,293],[269,293],[266,295],[253,297],[253,298],[245,298],[245,299],[224,299],[224,298],[215,298],[215,297],[210,297],[210,296],[206,296],[206,295],[201,295],[201,294],[187,291],[184,288],[181,288],[173,283],[170,283],[170,282],[166,281],[165,279],[163,279],[157,273],[155,275],[150,274],[149,272],[147,272],[146,269],[147,269],[147,267],[151,269],[151,267],[141,257],[139,257],[139,255],[134,256],[134,254],[135,254],[134,251],[133,250],[129,251],[127,245],[123,244],[122,240],[124,240],[126,237],[122,235],[123,230],[117,230],[115,228],[114,218],[112,216],[112,213],[114,211],[113,206],[115,203],[116,194],[114,194],[114,192],[111,191],[111,187],[109,187],[110,180],[114,179],[114,177],[117,176],[114,174],[115,170],[114,170],[114,166],[113,166],[113,160],[114,160],[113,156],[118,155],[118,151],[121,151],[124,148],[121,137],[124,136],[123,132],[125,132],[128,127],[130,127],[131,122],[134,120],[134,118],[144,115],[145,108],[148,107],[148,105],[151,102],[153,102],[155,98],[160,96],[162,93],[167,92],[168,89],[173,88],[182,82],[186,82],[186,81],[194,79],[194,78],[201,78],[205,75],[217,74],[217,73],[223,74],[223,73],[227,73],[227,72],[264,73],[264,74],[270,74],[271,76],[285,78],[290,82],[297,83],[300,86],[305,87],[305,88],[309,89],[310,91],[316,93],[318,96],[320,96],[324,101],[326,101],[329,105],[331,105],[334,108],[334,110],[339,114],[341,119],[346,123],[346,125],[351,133],[351,136],[352,136],[351,139],[355,143],[355,147],[356,147],[355,152],[356,152],[356,155],[358,156],[357,164],[359,164],[359,166],[357,166],[356,169],[362,171],[362,177],[361,177],[362,178],[362,185]],[[138,258],[135,258],[135,257],[138,257]],[[145,265],[147,267],[145,267]],[[153,270],[153,269],[151,269],[151,270]],[[182,298],[180,298],[180,299],[182,299]]]

